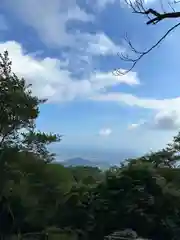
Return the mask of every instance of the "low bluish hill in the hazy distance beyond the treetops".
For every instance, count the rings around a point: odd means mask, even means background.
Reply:
[[[99,167],[101,169],[106,169],[110,167],[110,164],[107,162],[96,162],[96,161],[90,161],[84,158],[76,157],[67,159],[63,162],[61,162],[65,167],[69,166],[90,166],[90,167]]]

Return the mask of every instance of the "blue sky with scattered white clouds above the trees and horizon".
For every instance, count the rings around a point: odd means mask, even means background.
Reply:
[[[131,54],[126,34],[145,50],[175,23],[147,26],[123,0],[1,0],[0,52],[8,50],[13,71],[48,99],[37,128],[63,135],[62,157],[145,153],[180,128],[180,29],[128,74],[113,71],[130,67],[118,56]]]

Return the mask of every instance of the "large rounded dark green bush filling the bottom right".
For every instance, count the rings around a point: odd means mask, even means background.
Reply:
[[[169,171],[174,169],[165,168]],[[180,217],[179,186],[166,178],[151,162],[129,164],[108,175],[97,187],[93,202],[96,224],[93,239],[123,229],[144,238],[178,239]]]

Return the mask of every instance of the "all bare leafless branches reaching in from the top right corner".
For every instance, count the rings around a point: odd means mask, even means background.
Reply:
[[[144,0],[125,0],[125,3],[132,9],[133,13],[141,14],[143,16],[147,17],[147,25],[156,25],[159,22],[169,20],[169,19],[179,19],[180,18],[180,12],[175,10],[175,5],[180,4],[180,1],[174,0],[173,2],[167,1],[168,9],[165,10],[165,7],[160,0],[161,3],[161,11],[147,8],[145,6]],[[165,38],[176,28],[180,26],[180,22],[176,22],[172,27],[170,27],[166,33],[151,47],[149,47],[146,50],[138,50],[136,49],[132,42],[129,40],[128,36],[125,37],[125,41],[130,47],[130,50],[133,54],[133,57],[131,57],[129,54],[118,54],[120,58],[123,61],[129,62],[131,64],[130,68],[127,71],[121,71],[120,69],[117,69],[114,71],[115,75],[124,75],[130,72],[136,64],[147,54],[149,54],[152,50],[154,50],[159,44],[161,44]]]

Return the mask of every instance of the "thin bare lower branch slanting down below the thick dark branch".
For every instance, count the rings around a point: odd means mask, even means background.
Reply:
[[[128,61],[131,62],[132,65],[131,67],[127,70],[127,71],[121,71],[120,69],[116,69],[113,71],[113,74],[115,76],[119,76],[119,75],[125,75],[128,72],[130,72],[135,66],[136,64],[141,60],[141,58],[143,58],[145,55],[147,55],[149,52],[151,52],[154,48],[156,48],[162,41],[164,41],[164,39],[169,35],[170,32],[172,32],[175,28],[177,28],[178,26],[180,26],[180,22],[175,24],[173,27],[171,27],[151,48],[149,48],[148,50],[144,51],[144,52],[139,52],[137,51],[132,44],[130,43],[130,41],[128,41],[128,44],[132,50],[132,52],[136,53],[138,56],[135,59],[131,59],[128,55],[123,55],[121,54],[121,56],[118,54],[118,56],[120,56],[120,58],[124,61]]]

